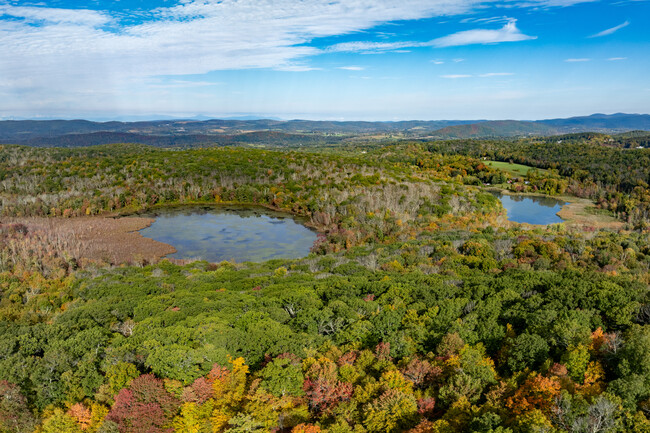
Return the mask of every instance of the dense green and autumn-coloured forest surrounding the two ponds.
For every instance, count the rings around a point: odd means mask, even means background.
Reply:
[[[650,150],[603,137],[0,146],[0,432],[650,432]],[[494,188],[621,225],[513,223]],[[33,224],[227,203],[318,239],[119,262]]]

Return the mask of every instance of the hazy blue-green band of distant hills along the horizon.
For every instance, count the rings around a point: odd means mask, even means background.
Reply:
[[[489,138],[549,136],[574,132],[650,131],[648,114],[593,114],[537,121],[434,120],[334,122],[275,119],[158,120],[92,122],[88,120],[0,121],[0,143],[75,147],[115,142],[158,146],[202,144],[326,144],[351,136],[390,138]]]

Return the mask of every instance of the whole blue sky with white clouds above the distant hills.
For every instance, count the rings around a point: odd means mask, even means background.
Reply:
[[[0,0],[0,119],[650,113],[648,0]]]

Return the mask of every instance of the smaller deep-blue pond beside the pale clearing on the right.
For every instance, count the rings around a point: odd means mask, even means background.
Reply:
[[[495,194],[508,212],[508,220],[528,224],[556,224],[564,221],[557,213],[564,202],[550,197]]]

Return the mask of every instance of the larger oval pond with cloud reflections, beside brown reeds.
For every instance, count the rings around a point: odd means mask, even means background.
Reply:
[[[291,215],[251,206],[192,206],[156,210],[140,230],[176,248],[167,257],[209,262],[261,262],[309,254],[316,233]]]

